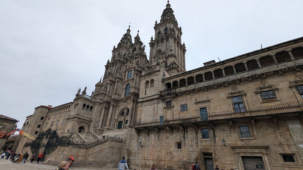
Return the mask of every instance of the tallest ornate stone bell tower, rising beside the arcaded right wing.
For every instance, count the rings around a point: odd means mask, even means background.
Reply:
[[[155,39],[151,37],[149,43],[149,62],[154,65],[165,61],[165,70],[170,75],[185,72],[186,48],[181,41],[182,30],[169,3],[162,12],[160,23],[155,22],[154,29]]]

